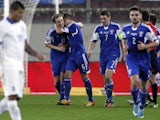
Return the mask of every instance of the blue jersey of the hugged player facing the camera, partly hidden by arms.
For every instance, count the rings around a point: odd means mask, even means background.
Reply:
[[[67,36],[65,33],[57,34],[55,27],[48,30],[45,43],[50,43],[52,45],[58,46],[60,43],[67,44]],[[52,56],[62,56],[66,52],[57,51],[51,49]]]

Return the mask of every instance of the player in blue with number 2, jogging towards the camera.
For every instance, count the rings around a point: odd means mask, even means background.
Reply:
[[[140,8],[131,7],[129,17],[131,24],[123,27],[122,50],[123,54],[126,54],[126,65],[131,80],[133,115],[144,118],[144,106],[148,94],[147,82],[151,77],[151,59],[147,49],[158,46],[159,41],[151,28],[141,23]],[[149,43],[149,40],[152,42]]]

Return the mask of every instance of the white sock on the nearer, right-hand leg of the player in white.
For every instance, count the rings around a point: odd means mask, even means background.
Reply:
[[[12,120],[21,120],[21,113],[18,107],[17,100],[8,100],[8,111]]]

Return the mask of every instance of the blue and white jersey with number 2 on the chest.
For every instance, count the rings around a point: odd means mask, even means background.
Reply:
[[[127,40],[128,54],[127,58],[138,60],[145,59],[150,60],[150,56],[145,50],[138,50],[137,45],[139,41],[144,44],[149,43],[149,41],[155,41],[156,36],[154,35],[151,28],[146,24],[141,23],[137,28],[133,28],[131,24],[124,26],[123,28],[124,38]]]

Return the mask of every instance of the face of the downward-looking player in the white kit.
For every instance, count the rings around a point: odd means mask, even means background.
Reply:
[[[18,10],[12,11],[11,14],[12,14],[12,19],[15,22],[18,22],[22,19],[23,15],[24,15],[24,10],[18,9]]]

